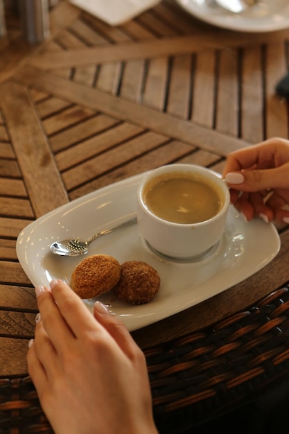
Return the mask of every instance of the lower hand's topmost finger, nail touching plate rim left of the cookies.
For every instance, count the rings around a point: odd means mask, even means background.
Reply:
[[[64,281],[51,282],[51,293],[58,306],[58,321],[61,317],[67,323],[73,336],[82,338],[87,332],[97,330],[102,331],[102,327],[97,327],[97,322],[93,315],[89,313],[87,306],[80,297]],[[62,336],[58,336],[58,324],[51,324],[55,340],[62,345]],[[64,332],[65,334],[65,332]]]

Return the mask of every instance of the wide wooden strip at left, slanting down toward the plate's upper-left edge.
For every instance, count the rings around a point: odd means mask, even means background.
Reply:
[[[0,105],[10,128],[33,211],[35,216],[42,216],[67,203],[67,192],[63,188],[51,150],[26,89],[14,83],[3,83],[0,94]],[[17,98],[21,101],[21,110]],[[20,210],[17,212],[20,213]],[[10,210],[11,214],[13,215],[13,208]],[[32,216],[32,213],[28,216]]]

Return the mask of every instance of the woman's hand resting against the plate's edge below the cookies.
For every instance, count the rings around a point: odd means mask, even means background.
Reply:
[[[36,288],[28,372],[57,434],[155,434],[146,360],[124,325],[62,281]]]

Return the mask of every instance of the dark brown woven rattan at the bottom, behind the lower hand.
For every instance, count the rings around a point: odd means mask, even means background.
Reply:
[[[289,376],[289,286],[145,354],[160,433],[234,410]],[[53,433],[28,376],[0,379],[0,433]]]

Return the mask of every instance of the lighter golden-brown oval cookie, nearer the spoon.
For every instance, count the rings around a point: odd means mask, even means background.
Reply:
[[[114,288],[121,277],[119,261],[107,254],[83,259],[73,270],[71,288],[81,298],[97,297]]]

